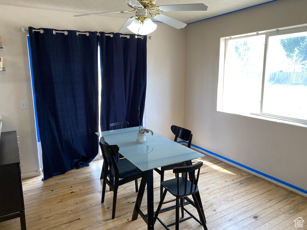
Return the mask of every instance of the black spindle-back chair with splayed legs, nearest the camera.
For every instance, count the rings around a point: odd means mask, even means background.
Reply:
[[[200,223],[204,230],[208,230],[207,226],[206,226],[206,219],[204,217],[204,214],[200,208],[200,204],[201,204],[201,200],[197,199],[196,197],[196,193],[199,193],[198,187],[197,187],[197,183],[198,183],[198,178],[199,178],[199,174],[200,174],[200,167],[202,167],[203,162],[198,162],[194,165],[190,165],[190,166],[184,166],[184,167],[175,167],[173,169],[173,173],[176,174],[177,178],[174,179],[170,179],[167,181],[163,181],[161,182],[161,185],[163,186],[163,188],[165,188],[163,195],[161,197],[160,203],[158,205],[157,211],[154,215],[154,223],[156,222],[156,220],[158,220],[164,228],[169,229],[170,226],[176,225],[176,230],[179,230],[179,223],[185,220],[188,220],[190,218],[193,218],[194,220],[196,220],[198,223]],[[195,177],[195,171],[197,170],[197,176]],[[179,177],[180,173],[185,173],[185,177]],[[190,175],[190,180],[188,180],[188,174]],[[192,174],[192,176],[191,176]],[[169,192],[170,194],[172,194],[173,196],[176,197],[176,221],[171,223],[171,224],[164,224],[159,218],[158,215],[159,213],[163,213],[163,212],[167,212],[169,210],[172,210],[174,208],[170,208],[170,209],[163,209],[161,211],[161,207],[163,204],[163,201],[165,199],[165,195],[166,193]],[[187,196],[192,195],[193,201],[188,198]],[[200,196],[199,196],[200,197]],[[185,200],[187,200],[188,202],[186,202],[186,204],[191,204],[193,205],[198,212],[199,218],[200,220],[198,220],[192,213],[190,213],[187,209],[185,209],[184,205],[185,205]],[[180,203],[179,203],[180,201]],[[183,219],[179,220],[179,208],[181,207],[181,217]],[[186,213],[189,214],[189,217],[184,218],[184,211]]]

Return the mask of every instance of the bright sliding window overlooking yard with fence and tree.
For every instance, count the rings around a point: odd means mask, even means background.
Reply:
[[[227,38],[223,42],[219,111],[307,123],[306,29]]]

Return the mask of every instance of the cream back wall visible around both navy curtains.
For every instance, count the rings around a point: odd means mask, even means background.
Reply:
[[[72,17],[74,13],[0,5],[0,40],[3,42],[6,74],[0,72],[0,115],[2,132],[17,130],[21,142],[21,171],[39,170],[26,33],[20,27],[33,26],[79,31],[118,32],[125,19],[103,16]],[[172,121],[183,125],[185,30],[158,23],[148,40],[146,127],[170,137]],[[126,39],[126,38],[123,38]],[[167,41],[168,40],[168,41]],[[167,41],[167,42],[166,42]],[[173,54],[175,54],[173,56]],[[175,82],[177,80],[177,82]],[[174,83],[175,82],[175,83]],[[27,109],[20,109],[20,101]],[[177,114],[174,120],[170,116]],[[167,119],[165,119],[165,117]]]

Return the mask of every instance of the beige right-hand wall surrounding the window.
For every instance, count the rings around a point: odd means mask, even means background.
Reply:
[[[220,38],[307,23],[279,0],[186,27],[185,128],[193,144],[307,190],[307,128],[216,111]],[[193,36],[191,36],[193,35]]]

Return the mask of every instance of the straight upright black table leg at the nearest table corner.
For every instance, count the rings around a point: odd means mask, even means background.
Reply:
[[[147,171],[147,229],[154,229],[154,211],[153,211],[153,170]]]

